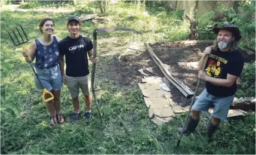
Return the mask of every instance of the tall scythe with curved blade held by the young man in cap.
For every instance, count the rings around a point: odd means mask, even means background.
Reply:
[[[94,32],[93,32],[93,58],[95,58],[97,56],[97,31],[101,32],[101,33],[105,33],[105,32],[119,31],[119,30],[141,34],[137,30],[129,29],[127,27],[104,27],[104,28],[94,29]],[[100,112],[100,106],[98,106],[98,101],[97,101],[96,92],[95,92],[95,88],[94,88],[95,69],[96,69],[96,64],[92,64],[91,88],[92,88],[92,94],[94,97],[94,102],[97,106],[97,111],[100,114],[100,121],[101,121],[101,125],[102,125],[102,114]]]

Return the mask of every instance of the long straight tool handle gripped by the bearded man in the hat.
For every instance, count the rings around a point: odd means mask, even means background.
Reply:
[[[202,69],[205,69],[208,56],[209,56],[209,55],[207,55],[207,56],[205,57],[205,61],[203,62],[203,67],[202,67]],[[201,79],[198,79],[198,83],[197,83],[197,85],[196,85],[196,91],[195,91],[195,93],[194,93],[194,95],[193,95],[193,98],[192,98],[192,100],[191,100],[190,107],[189,107],[189,111],[187,111],[186,120],[185,120],[185,122],[184,122],[184,124],[183,124],[183,128],[182,128],[180,137],[178,138],[178,142],[177,142],[176,148],[178,148],[178,146],[180,145],[180,141],[181,141],[181,138],[182,138],[182,136],[183,136],[184,129],[185,129],[185,127],[187,126],[187,120],[189,119],[190,112],[191,112],[191,108],[192,108],[192,106],[193,106],[193,104],[194,104],[196,94],[198,93],[198,88],[199,88],[200,82],[201,82]]]

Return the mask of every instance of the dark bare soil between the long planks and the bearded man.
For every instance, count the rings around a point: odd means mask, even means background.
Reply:
[[[185,68],[178,66],[178,62],[197,62],[200,60],[201,55],[198,54],[198,50],[203,51],[206,47],[211,44],[198,44],[189,46],[178,46],[178,45],[151,45],[156,56],[164,63],[167,64],[170,69],[171,75],[183,82],[185,85],[189,86],[192,91],[195,91],[196,84],[198,82],[198,69]],[[205,89],[205,82],[201,82],[198,88],[198,94]],[[172,100],[181,106],[188,106],[191,103],[191,98],[184,97],[181,92],[175,88],[174,85],[171,86]]]

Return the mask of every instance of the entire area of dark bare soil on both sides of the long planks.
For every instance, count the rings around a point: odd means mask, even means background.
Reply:
[[[198,54],[198,49],[202,52],[206,47],[211,44],[197,44],[197,45],[169,45],[169,44],[153,44],[152,47],[155,54],[162,61],[167,64],[170,69],[169,72],[172,76],[179,79],[185,85],[189,86],[192,91],[195,91],[197,84],[198,69],[186,68],[178,66],[178,62],[196,62],[199,61],[201,55]],[[196,50],[195,50],[196,49]],[[133,54],[124,55],[118,60],[118,56],[113,57],[113,61],[105,64],[103,70],[107,72],[106,78],[113,80],[116,85],[129,86],[132,83],[141,82],[143,75],[138,72],[143,69],[144,73],[149,76],[155,76],[147,72],[148,67],[154,67],[154,71],[159,77],[164,77],[159,67],[152,60],[149,53],[136,51]],[[245,57],[246,55],[243,54]],[[246,58],[245,58],[246,60]],[[205,89],[205,82],[201,81],[199,85],[198,94]],[[184,97],[181,92],[171,85],[172,100],[181,106],[188,106],[191,103],[191,98]]]

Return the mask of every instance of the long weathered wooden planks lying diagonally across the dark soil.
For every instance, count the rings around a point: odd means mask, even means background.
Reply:
[[[161,69],[162,73],[169,80],[169,82],[171,82],[172,85],[174,85],[185,97],[192,96],[194,92],[183,82],[171,76],[171,73],[169,73],[168,67],[166,67],[166,64],[162,63],[162,61],[159,60],[159,58],[155,55],[155,53],[153,52],[149,44],[146,44],[146,47],[150,56],[153,58],[153,60],[158,65],[159,69]]]

